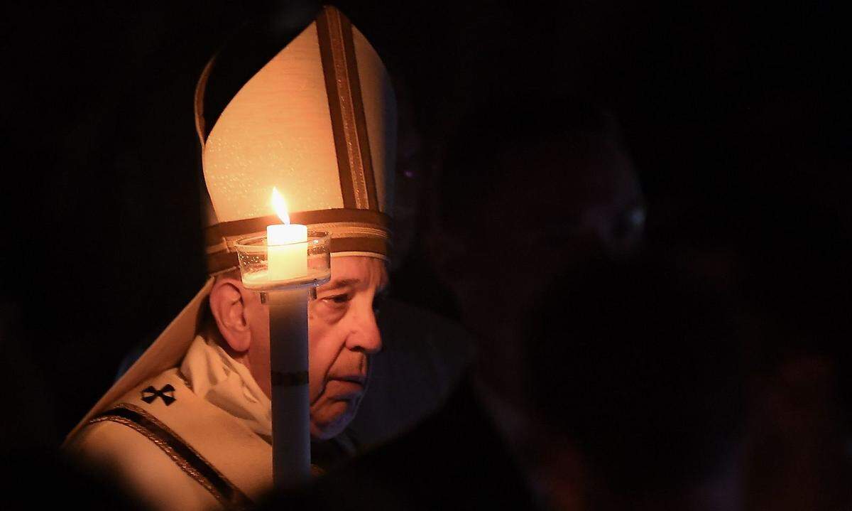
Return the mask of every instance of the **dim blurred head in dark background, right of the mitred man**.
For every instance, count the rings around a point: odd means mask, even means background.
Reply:
[[[531,94],[459,123],[440,171],[431,258],[485,343],[482,380],[515,400],[523,305],[556,274],[639,247],[636,170],[613,115]]]

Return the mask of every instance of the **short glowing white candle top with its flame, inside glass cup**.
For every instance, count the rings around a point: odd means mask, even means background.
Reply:
[[[267,279],[286,281],[308,274],[308,227],[291,224],[287,205],[278,189],[272,189],[272,206],[283,224],[267,227]]]

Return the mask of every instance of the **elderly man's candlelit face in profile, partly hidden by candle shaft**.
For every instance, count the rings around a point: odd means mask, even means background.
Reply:
[[[369,359],[382,347],[373,311],[388,282],[381,259],[331,258],[331,282],[317,288],[308,305],[311,435],[331,438],[352,421],[367,386]],[[250,307],[252,373],[271,395],[269,309]]]

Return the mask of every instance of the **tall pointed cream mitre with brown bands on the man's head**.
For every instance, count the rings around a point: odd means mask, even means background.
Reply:
[[[324,7],[235,85],[234,76],[246,75],[240,62],[210,61],[196,94],[204,181],[221,228],[208,238],[227,246],[262,231],[275,187],[294,222],[308,218],[331,231],[332,253],[386,258],[396,108],[376,50],[343,13]],[[224,95],[230,99],[218,112],[206,96],[222,96],[228,87],[233,96]],[[357,232],[342,230],[353,223]],[[353,241],[359,236],[364,250]]]

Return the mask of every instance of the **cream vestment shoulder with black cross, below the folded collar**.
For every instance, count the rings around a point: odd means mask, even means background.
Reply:
[[[195,395],[177,369],[95,415],[67,450],[116,467],[155,508],[245,508],[272,486],[269,444]]]

